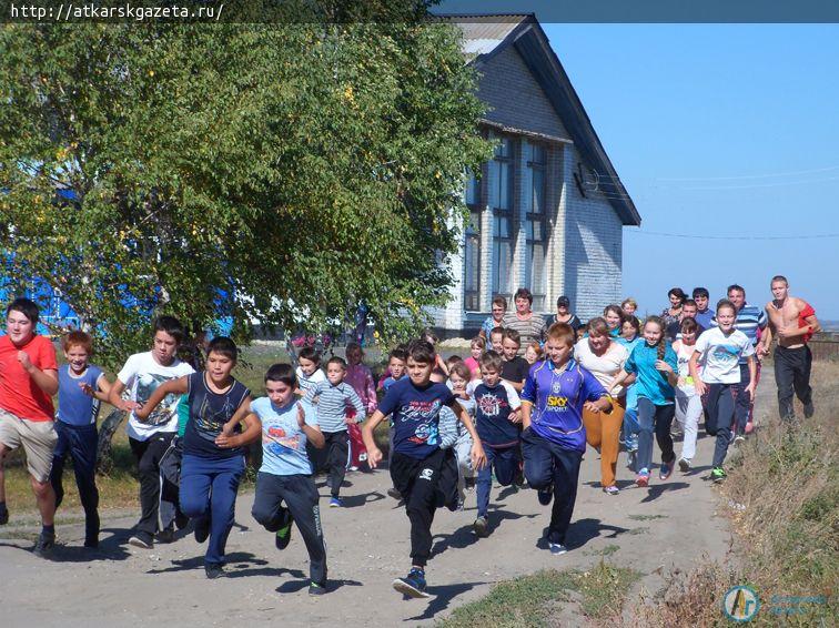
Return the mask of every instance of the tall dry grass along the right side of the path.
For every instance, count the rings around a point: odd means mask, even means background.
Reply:
[[[736,533],[729,565],[705,561],[675,576],[664,596],[633,609],[635,625],[730,625],[720,601],[736,585],[760,598],[752,625],[836,625],[839,364],[818,363],[812,384],[816,416],[789,426],[776,415],[746,444],[721,487]]]

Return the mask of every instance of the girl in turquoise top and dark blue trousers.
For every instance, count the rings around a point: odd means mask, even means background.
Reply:
[[[638,486],[649,484],[649,468],[653,463],[653,433],[661,449],[661,468],[658,477],[667,479],[673,473],[676,454],[673,450],[670,425],[676,413],[674,386],[678,381],[676,353],[667,344],[664,323],[658,316],[649,316],[644,322],[644,342],[629,354],[624,369],[615,377],[610,391],[623,384],[629,375],[636,375],[635,388],[638,394],[638,456],[636,466]]]

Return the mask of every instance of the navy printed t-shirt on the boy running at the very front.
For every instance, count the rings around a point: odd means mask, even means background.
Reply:
[[[455,403],[445,384],[418,387],[410,377],[396,382],[378,404],[382,414],[393,415],[393,450],[421,460],[434,454],[439,447],[439,411]]]

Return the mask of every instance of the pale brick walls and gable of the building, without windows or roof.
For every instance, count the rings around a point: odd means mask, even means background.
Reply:
[[[481,68],[478,97],[491,111],[489,122],[534,133],[568,138],[554,108],[534,80],[514,48],[507,48]],[[492,136],[493,131],[489,131]],[[512,274],[516,287],[525,285],[527,265],[526,220],[530,203],[530,170],[527,168],[528,139],[519,136],[515,150],[514,225],[516,237]],[[554,312],[556,298],[567,295],[572,307],[583,320],[597,316],[604,305],[619,302],[621,293],[623,224],[602,192],[588,191],[583,196],[574,180],[579,154],[573,144],[552,142],[547,154],[546,231],[547,290],[546,313]],[[459,254],[452,263],[455,287],[446,307],[432,311],[439,330],[461,333],[476,330],[488,315],[494,296],[493,207],[498,183],[495,162],[483,168],[481,203],[481,312],[464,311],[463,240]],[[587,172],[584,169],[584,172]],[[592,180],[590,175],[587,179]],[[511,304],[512,306],[512,304]]]

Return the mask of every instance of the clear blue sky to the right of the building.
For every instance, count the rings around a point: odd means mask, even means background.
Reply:
[[[538,17],[538,16],[537,16]],[[769,280],[839,320],[839,26],[543,24],[643,217],[624,230],[624,286],[640,310],[667,291]]]

